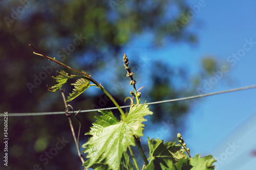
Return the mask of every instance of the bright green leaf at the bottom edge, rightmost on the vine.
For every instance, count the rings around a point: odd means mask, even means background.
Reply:
[[[199,154],[197,154],[194,158],[190,159],[189,164],[193,166],[191,170],[208,170],[214,169],[214,166],[212,166],[214,162],[216,160],[212,159],[212,155],[200,158]]]

